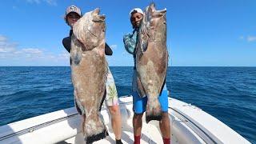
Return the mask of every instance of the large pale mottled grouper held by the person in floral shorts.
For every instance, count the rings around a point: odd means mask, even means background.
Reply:
[[[73,26],[70,63],[74,100],[82,113],[82,133],[86,143],[105,138],[108,133],[99,110],[106,90],[105,15],[99,9],[87,12]]]

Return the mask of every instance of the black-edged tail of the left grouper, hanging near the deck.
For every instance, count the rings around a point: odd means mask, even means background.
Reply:
[[[98,114],[86,118],[83,131],[86,143],[98,141],[109,135],[102,118],[100,118]]]

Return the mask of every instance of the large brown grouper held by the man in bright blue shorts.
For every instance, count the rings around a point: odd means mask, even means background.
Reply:
[[[138,94],[147,96],[146,122],[162,119],[158,96],[166,81],[167,65],[166,9],[156,10],[151,3],[144,12],[136,46]]]

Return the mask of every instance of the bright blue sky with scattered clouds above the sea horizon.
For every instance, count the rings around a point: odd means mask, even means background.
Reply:
[[[8,0],[0,5],[0,66],[70,66],[62,38],[70,27],[67,6],[106,14],[110,66],[133,66],[122,37],[131,33],[129,12],[154,2],[167,9],[169,66],[256,66],[255,0]]]

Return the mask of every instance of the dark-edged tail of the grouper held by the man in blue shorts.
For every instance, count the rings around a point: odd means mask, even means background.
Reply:
[[[162,120],[162,110],[158,98],[151,101],[148,99],[146,104],[146,123],[150,122],[151,120]]]

